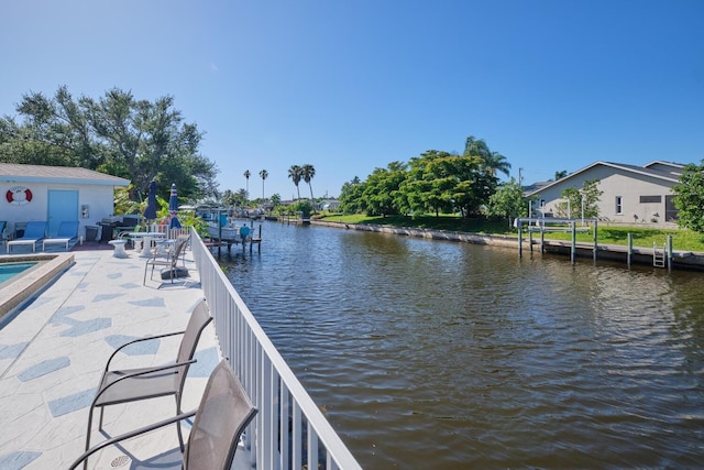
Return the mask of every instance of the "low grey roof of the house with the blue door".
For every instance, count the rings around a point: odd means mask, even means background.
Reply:
[[[129,179],[74,166],[24,165],[0,163],[0,181],[19,183],[68,183],[128,186]]]

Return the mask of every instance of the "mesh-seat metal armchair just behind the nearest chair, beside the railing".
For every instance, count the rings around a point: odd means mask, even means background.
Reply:
[[[186,375],[191,363],[196,362],[193,357],[198,346],[200,335],[208,324],[212,320],[210,310],[206,300],[194,308],[190,315],[188,326],[184,331],[175,331],[164,335],[157,335],[146,338],[135,339],[118,348],[106,364],[106,369],[100,378],[98,392],[90,405],[88,412],[88,433],[86,435],[86,450],[90,447],[90,430],[92,428],[92,412],[100,408],[100,420],[98,429],[102,430],[102,415],[105,407],[117,405],[120,403],[130,403],[147,398],[156,398],[160,396],[173,395],[176,398],[176,414],[182,413],[180,400],[186,383]],[[183,335],[178,353],[176,354],[176,363],[164,367],[152,367],[141,369],[123,369],[110,370],[110,362],[113,358],[130,345],[140,341],[154,340],[170,336]],[[184,438],[180,431],[180,423],[178,424],[178,441],[184,446]]]

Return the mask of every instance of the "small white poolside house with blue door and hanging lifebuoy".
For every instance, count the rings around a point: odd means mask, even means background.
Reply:
[[[47,221],[55,234],[62,221],[79,221],[79,234],[114,212],[114,188],[129,179],[69,166],[0,163],[0,220],[10,231],[31,220]]]

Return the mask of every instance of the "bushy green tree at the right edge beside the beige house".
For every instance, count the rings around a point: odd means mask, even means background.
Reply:
[[[674,207],[678,209],[678,225],[704,233],[704,160],[701,165],[685,165],[680,184],[672,192]]]

